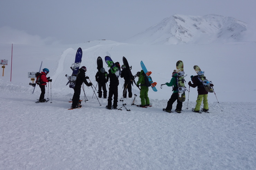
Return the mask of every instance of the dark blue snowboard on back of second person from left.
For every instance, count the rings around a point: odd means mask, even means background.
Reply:
[[[83,51],[82,49],[79,47],[76,51],[76,55],[75,55],[75,63],[72,64],[71,69],[73,70],[72,75],[71,76],[67,76],[68,82],[69,83],[69,87],[70,88],[74,88],[75,87],[75,81],[76,81],[76,76],[78,74],[79,71],[79,67],[82,61],[82,55],[83,55]],[[67,85],[66,84],[66,85]]]

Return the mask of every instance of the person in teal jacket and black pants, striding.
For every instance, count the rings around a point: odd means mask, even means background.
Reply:
[[[167,106],[165,108],[166,112],[171,113],[172,111],[172,104],[177,100],[177,105],[176,105],[176,109],[175,111],[177,113],[181,113],[181,109],[182,109],[182,102],[178,99],[179,97],[179,91],[178,91],[178,87],[177,87],[177,71],[173,70],[172,73],[172,79],[170,81],[170,83],[165,83],[167,86],[171,87],[173,86],[173,93],[171,98],[169,99],[169,101],[167,102]]]

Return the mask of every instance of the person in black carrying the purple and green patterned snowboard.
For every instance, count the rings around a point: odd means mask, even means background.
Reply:
[[[116,67],[120,71],[120,65],[116,62]],[[118,102],[118,85],[119,80],[115,73],[112,73],[111,70],[108,70],[109,72],[109,94],[108,94],[108,105],[106,106],[107,109],[111,109],[112,106],[112,97],[114,95],[114,101],[113,101],[113,109],[117,109],[117,102]]]

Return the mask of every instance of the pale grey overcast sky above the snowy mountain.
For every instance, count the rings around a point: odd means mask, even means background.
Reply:
[[[174,14],[217,14],[254,27],[255,7],[255,0],[0,0],[0,43],[121,42]]]

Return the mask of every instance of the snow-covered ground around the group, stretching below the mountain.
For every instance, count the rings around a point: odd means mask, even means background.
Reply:
[[[0,59],[9,60],[0,77],[0,169],[256,169],[255,46],[255,42],[13,44],[10,82],[11,44],[0,44]],[[67,110],[73,89],[65,86],[65,74],[72,73],[70,66],[79,47],[81,65],[94,86],[98,56],[111,56],[120,64],[125,56],[133,74],[141,70],[142,60],[157,82],[157,92],[149,89],[153,107],[131,106],[134,98],[127,98],[118,102],[118,108],[126,103],[131,111],[107,110],[107,99],[98,101],[93,89],[85,86],[88,101],[82,102],[81,109]],[[210,113],[191,111],[197,96],[194,88],[186,92],[182,113],[162,111],[172,88],[160,85],[170,81],[178,60],[184,62],[187,83],[195,75],[194,65],[213,82],[216,95],[208,94]],[[41,61],[53,79],[46,88],[47,103],[35,103],[40,88],[32,94],[28,85],[32,82],[28,72],[37,72]],[[119,78],[119,82],[121,98],[124,81]],[[140,104],[137,87],[132,91]]]

